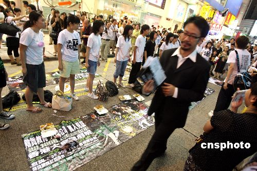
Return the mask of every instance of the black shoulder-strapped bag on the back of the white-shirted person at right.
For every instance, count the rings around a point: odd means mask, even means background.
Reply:
[[[249,89],[251,86],[252,77],[248,72],[240,73],[239,57],[238,57],[238,53],[236,50],[235,50],[235,54],[236,54],[237,72],[238,73],[236,74],[234,81],[233,81],[234,90],[236,91],[237,88],[240,88],[240,90]]]

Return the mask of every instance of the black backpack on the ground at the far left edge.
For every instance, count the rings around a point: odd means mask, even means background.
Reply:
[[[3,108],[10,107],[10,111],[12,106],[17,104],[20,100],[20,94],[18,94],[17,91],[10,91],[5,97],[2,98]]]

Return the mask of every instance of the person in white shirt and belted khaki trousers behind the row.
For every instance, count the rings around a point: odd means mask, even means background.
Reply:
[[[107,55],[108,55],[108,51],[109,51],[110,40],[113,36],[113,30],[111,30],[110,27],[111,27],[111,23],[107,22],[106,27],[103,31],[103,35],[102,35],[101,59],[100,59],[100,61],[107,62]]]

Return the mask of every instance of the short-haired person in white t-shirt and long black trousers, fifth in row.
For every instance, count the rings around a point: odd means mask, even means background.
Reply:
[[[128,79],[128,84],[131,87],[134,87],[134,83],[137,79],[137,73],[141,69],[141,64],[144,56],[144,47],[145,47],[145,36],[149,34],[150,27],[149,25],[142,25],[140,35],[137,37],[135,48],[132,54],[132,69],[130,72],[130,78]],[[146,61],[146,59],[145,59]]]

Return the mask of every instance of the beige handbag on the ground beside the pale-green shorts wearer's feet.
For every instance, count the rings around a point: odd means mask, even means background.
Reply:
[[[52,97],[52,108],[57,110],[69,111],[71,109],[72,97],[65,95],[58,90]]]

